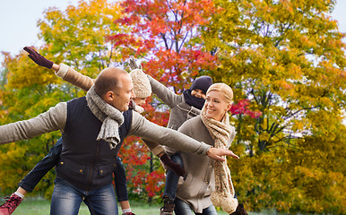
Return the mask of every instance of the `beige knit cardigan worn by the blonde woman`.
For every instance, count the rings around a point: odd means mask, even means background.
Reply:
[[[198,142],[214,145],[211,134],[203,125],[201,116],[195,116],[180,126],[177,130]],[[233,141],[235,133],[229,139],[229,145]],[[177,150],[166,147],[173,154]],[[212,205],[210,195],[215,190],[214,161],[207,156],[196,156],[191,153],[179,151],[184,161],[184,168],[188,173],[183,184],[177,186],[177,198],[189,203],[195,212],[202,213],[203,209]]]

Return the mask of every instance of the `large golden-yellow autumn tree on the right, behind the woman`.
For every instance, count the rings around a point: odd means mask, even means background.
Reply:
[[[214,3],[220,13],[203,27],[204,45],[221,60],[212,76],[263,113],[246,142],[255,157],[234,169],[247,206],[344,213],[344,198],[329,192],[344,190],[345,170],[337,167],[346,73],[344,34],[330,15],[335,1]]]

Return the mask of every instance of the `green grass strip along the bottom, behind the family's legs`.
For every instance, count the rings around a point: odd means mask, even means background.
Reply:
[[[2,204],[3,202],[0,202]],[[160,205],[156,203],[134,202],[130,201],[131,209],[136,215],[155,215],[159,214]],[[21,205],[13,212],[13,215],[48,215],[50,210],[50,201],[42,198],[25,198]],[[79,215],[89,215],[88,207],[82,203]],[[119,207],[119,214],[121,209]],[[218,211],[219,215],[226,215],[224,211]],[[273,211],[264,211],[262,213],[248,212],[249,215],[273,215]]]

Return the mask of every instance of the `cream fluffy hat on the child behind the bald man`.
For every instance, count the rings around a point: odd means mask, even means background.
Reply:
[[[142,70],[134,69],[130,72],[130,76],[134,83],[134,94],[137,98],[147,98],[151,96],[151,83]]]

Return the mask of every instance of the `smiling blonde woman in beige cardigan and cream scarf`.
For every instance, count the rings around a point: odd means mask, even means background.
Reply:
[[[229,125],[228,110],[231,107],[233,91],[224,83],[214,83],[207,90],[200,116],[189,119],[180,126],[179,132],[217,148],[228,149],[235,137],[235,129]],[[170,154],[178,151],[166,147]],[[179,151],[188,175],[177,185],[175,199],[176,215],[217,214],[218,206],[226,212],[236,211],[238,201],[229,175],[226,161],[195,156]],[[232,156],[238,159],[237,155]],[[215,174],[214,174],[215,173]]]

